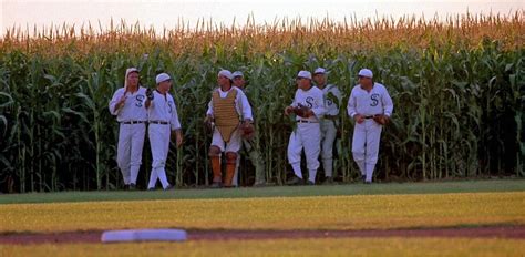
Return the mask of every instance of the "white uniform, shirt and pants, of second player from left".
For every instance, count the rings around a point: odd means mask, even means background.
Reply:
[[[157,178],[161,181],[163,188],[166,188],[169,186],[165,171],[167,153],[169,152],[169,138],[172,131],[181,128],[177,106],[173,96],[169,93],[163,95],[157,90],[153,91],[153,100],[147,109],[147,117],[150,145],[153,155],[152,174],[147,188],[155,188]]]

